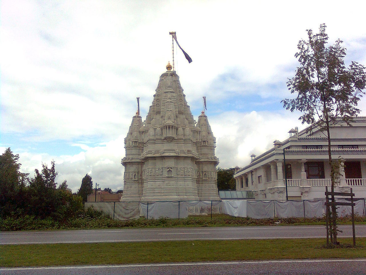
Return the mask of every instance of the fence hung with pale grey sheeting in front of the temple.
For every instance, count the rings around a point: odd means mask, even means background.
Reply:
[[[346,201],[346,200],[338,200]],[[355,199],[355,213],[366,216],[365,199]],[[144,216],[147,219],[168,217],[186,218],[190,215],[210,215],[213,213],[229,214],[236,217],[254,219],[285,217],[322,217],[325,213],[324,200],[290,200],[290,201],[254,201],[254,200],[221,200],[221,201],[153,201],[153,202],[86,202],[85,209],[94,209],[108,214],[113,219],[129,220]],[[351,213],[351,206],[339,206],[339,217]]]

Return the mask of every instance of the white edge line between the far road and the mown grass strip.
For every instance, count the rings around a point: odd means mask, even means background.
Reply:
[[[64,241],[64,242],[8,242],[0,243],[0,245],[43,245],[43,244],[55,244],[55,243],[110,243],[110,242],[164,242],[164,241],[209,241],[209,240],[250,240],[250,239],[322,239],[324,236],[302,236],[302,237],[242,237],[242,238],[185,238],[185,239],[130,239],[130,240],[100,240],[100,241]],[[352,238],[352,236],[338,236],[338,238]],[[366,238],[366,235],[356,236],[356,238]]]

